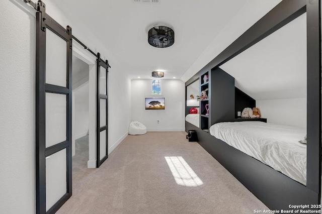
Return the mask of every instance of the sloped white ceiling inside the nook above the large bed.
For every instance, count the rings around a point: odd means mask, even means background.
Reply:
[[[306,13],[220,68],[256,100],[306,97]]]

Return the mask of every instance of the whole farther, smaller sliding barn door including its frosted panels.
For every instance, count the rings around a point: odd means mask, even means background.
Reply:
[[[108,61],[97,54],[96,167],[108,158]]]

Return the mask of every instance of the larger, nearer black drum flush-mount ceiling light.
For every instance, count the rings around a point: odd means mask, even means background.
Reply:
[[[149,30],[147,41],[157,48],[167,48],[175,43],[175,32],[166,26],[156,26]]]

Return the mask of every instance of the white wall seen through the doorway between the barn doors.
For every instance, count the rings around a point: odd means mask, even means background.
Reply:
[[[75,91],[75,139],[89,131],[89,84]]]

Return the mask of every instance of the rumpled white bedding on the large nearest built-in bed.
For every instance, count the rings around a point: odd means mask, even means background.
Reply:
[[[217,139],[306,185],[306,145],[298,143],[305,130],[248,121],[214,124],[209,131]]]

